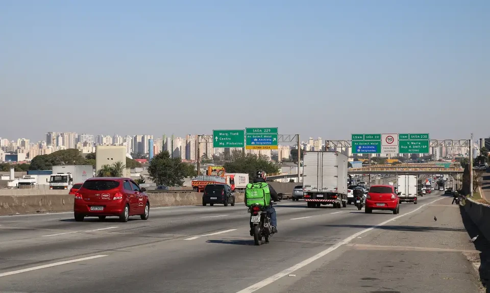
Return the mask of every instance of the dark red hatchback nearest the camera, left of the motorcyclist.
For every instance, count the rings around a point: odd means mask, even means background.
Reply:
[[[86,216],[118,216],[121,222],[128,222],[129,216],[140,215],[148,219],[150,201],[130,178],[94,177],[87,179],[75,193],[75,221],[81,222]]]

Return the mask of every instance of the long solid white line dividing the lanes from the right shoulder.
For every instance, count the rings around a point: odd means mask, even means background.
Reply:
[[[402,214],[402,215],[399,215],[399,216],[390,218],[389,220],[384,221],[384,222],[382,222],[382,223],[380,223],[378,225],[374,225],[374,226],[371,226],[370,228],[366,228],[366,229],[364,229],[364,230],[362,230],[360,232],[357,232],[357,233],[355,233],[355,234],[353,234],[353,235],[345,238],[344,240],[341,240],[337,244],[335,244],[335,245],[327,248],[326,250],[324,250],[324,251],[322,251],[322,252],[320,252],[320,253],[318,253],[318,254],[316,254],[316,255],[308,258],[308,259],[305,259],[302,262],[297,263],[297,264],[295,264],[295,265],[293,265],[293,266],[291,266],[289,268],[286,268],[286,270],[284,270],[282,272],[279,272],[279,273],[277,273],[274,276],[268,277],[267,279],[264,279],[264,280],[262,280],[262,281],[260,281],[260,282],[258,282],[256,284],[254,284],[252,286],[249,286],[249,287],[247,287],[247,288],[245,288],[243,290],[240,290],[237,293],[252,293],[252,292],[255,292],[258,289],[263,288],[263,287],[265,287],[265,286],[267,286],[267,285],[269,285],[269,284],[271,284],[271,283],[273,283],[273,282],[281,279],[282,277],[287,276],[287,275],[291,274],[292,272],[295,272],[295,271],[299,270],[300,268],[302,268],[302,267],[304,267],[304,266],[312,263],[313,261],[315,261],[315,260],[317,260],[319,258],[324,257],[325,255],[331,253],[332,251],[336,250],[337,248],[341,247],[342,245],[346,245],[351,240],[355,239],[357,236],[360,236],[360,235],[362,235],[362,234],[364,234],[366,232],[369,232],[369,231],[373,230],[376,227],[384,226],[384,225],[388,224],[389,222],[393,222],[393,221],[395,221],[398,218],[401,218],[403,216],[406,216],[406,215],[409,215],[411,213],[414,213],[414,212],[420,210],[421,208],[423,208],[423,207],[425,207],[427,205],[430,205],[430,204],[432,204],[432,203],[434,203],[436,201],[440,201],[440,200],[443,200],[443,199],[445,199],[445,198],[436,199],[436,200],[434,200],[434,201],[432,201],[430,203],[421,205],[420,207],[414,209],[413,211],[410,211],[410,212],[407,212],[405,214]]]

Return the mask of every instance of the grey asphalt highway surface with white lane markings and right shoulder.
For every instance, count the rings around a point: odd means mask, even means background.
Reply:
[[[243,204],[154,208],[128,223],[3,216],[0,291],[478,292],[464,254],[479,252],[451,200],[433,192],[399,215],[282,201],[279,233],[259,247]]]

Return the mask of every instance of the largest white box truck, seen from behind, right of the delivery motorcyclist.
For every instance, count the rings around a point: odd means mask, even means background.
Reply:
[[[303,153],[303,192],[309,208],[347,207],[347,159],[339,152]]]

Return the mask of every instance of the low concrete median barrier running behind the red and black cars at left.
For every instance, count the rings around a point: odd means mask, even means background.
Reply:
[[[202,193],[150,193],[152,207],[202,205]],[[235,193],[235,202],[242,203],[243,193]],[[72,211],[74,196],[70,194],[35,194],[0,196],[0,215]]]

